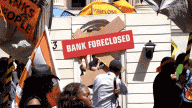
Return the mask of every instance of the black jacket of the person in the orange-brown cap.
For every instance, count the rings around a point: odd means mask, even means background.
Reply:
[[[182,89],[165,73],[160,72],[153,83],[154,108],[178,108]]]

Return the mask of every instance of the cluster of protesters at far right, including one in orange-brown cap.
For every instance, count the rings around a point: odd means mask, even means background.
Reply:
[[[157,68],[159,74],[153,82],[154,108],[188,108],[192,105],[192,72],[184,69],[186,53],[176,60],[164,57]],[[191,65],[191,61],[189,61]]]

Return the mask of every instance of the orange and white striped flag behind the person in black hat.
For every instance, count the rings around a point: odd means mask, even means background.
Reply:
[[[47,29],[48,30],[48,29]],[[18,108],[18,105],[20,103],[22,89],[24,87],[24,81],[25,79],[31,74],[31,67],[33,65],[37,64],[48,64],[51,67],[51,71],[54,75],[58,76],[55,71],[55,66],[53,64],[52,55],[50,53],[50,44],[48,43],[47,35],[49,35],[47,32],[44,32],[39,39],[35,50],[30,56],[30,59],[28,60],[25,69],[21,75],[21,78],[19,80],[19,83],[16,88],[16,94],[15,94],[15,101],[12,103],[12,108]],[[47,95],[47,99],[52,107],[57,105],[57,99],[60,94],[59,84],[57,84],[53,87],[53,91]]]

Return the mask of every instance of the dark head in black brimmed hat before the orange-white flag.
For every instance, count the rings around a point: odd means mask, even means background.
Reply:
[[[51,73],[48,65],[32,66],[32,75],[24,81],[24,88],[21,97],[20,107],[24,107],[27,99],[33,95],[38,97],[46,97],[52,92],[54,85],[57,84],[56,79],[59,79]]]

